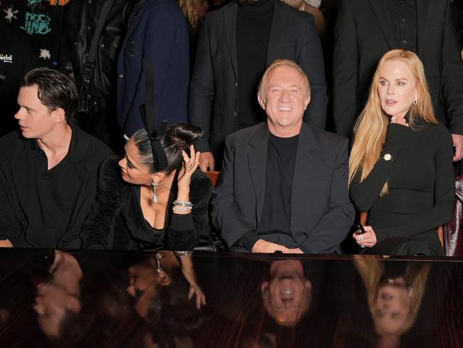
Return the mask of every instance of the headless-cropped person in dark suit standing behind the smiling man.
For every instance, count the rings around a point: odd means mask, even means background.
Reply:
[[[189,123],[204,131],[195,147],[202,170],[219,168],[224,139],[265,121],[255,93],[265,68],[296,61],[312,83],[305,121],[325,128],[326,82],[320,39],[310,14],[279,0],[237,0],[206,16],[189,88]]]

